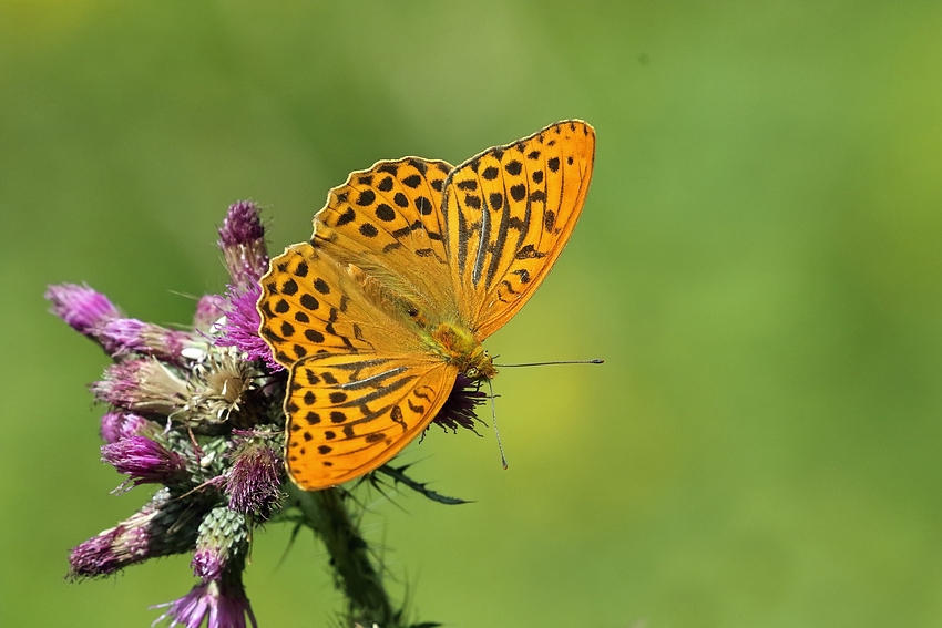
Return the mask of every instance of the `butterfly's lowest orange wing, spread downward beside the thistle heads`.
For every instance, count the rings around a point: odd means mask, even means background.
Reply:
[[[386,463],[438,414],[457,370],[413,357],[320,353],[291,368],[286,460],[308,491]]]

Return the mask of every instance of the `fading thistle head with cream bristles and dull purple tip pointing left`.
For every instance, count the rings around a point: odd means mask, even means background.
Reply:
[[[191,397],[186,381],[153,358],[111,366],[91,390],[111,405],[165,415],[184,408]]]

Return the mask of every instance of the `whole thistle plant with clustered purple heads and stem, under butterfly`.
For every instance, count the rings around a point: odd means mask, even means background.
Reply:
[[[281,516],[315,529],[331,555],[350,622],[370,618],[399,625],[370,548],[348,512],[349,493],[303,493],[285,477],[281,402],[286,378],[259,338],[255,303],[268,265],[258,207],[237,203],[219,229],[231,282],[226,297],[196,305],[193,331],[126,318],[88,286],[47,292],[51,310],[96,340],[115,360],[91,390],[109,405],[101,419],[102,461],[129,476],[125,485],[163,484],[141,511],[73,548],[72,578],[99,577],[147,558],[192,552],[201,578],[182,598],[160,605],[171,626],[256,626],[242,574],[252,531]],[[483,393],[459,380],[443,425],[472,424]],[[389,472],[395,482],[444,503],[421,483]],[[291,491],[286,500],[284,491]],[[246,621],[246,617],[248,621]],[[155,621],[155,624],[157,622]]]

